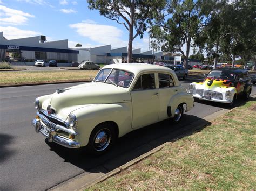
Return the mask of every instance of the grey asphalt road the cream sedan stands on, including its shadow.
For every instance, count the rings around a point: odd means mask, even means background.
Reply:
[[[194,80],[188,79],[182,84],[188,87]],[[106,173],[152,149],[138,152],[137,148],[145,143],[164,135],[174,138],[186,131],[191,122],[225,107],[218,103],[195,102],[195,107],[185,113],[181,124],[172,125],[163,121],[133,131],[118,139],[109,153],[93,157],[83,149],[70,150],[48,143],[31,125],[36,113],[33,105],[36,97],[76,84],[0,88],[0,190],[45,190],[85,171],[97,173],[93,169],[99,165],[112,164],[99,170]],[[129,152],[132,153],[130,157],[117,160],[117,157]]]

